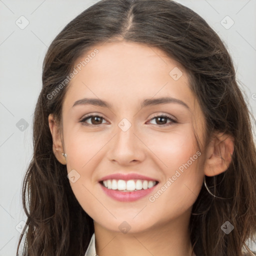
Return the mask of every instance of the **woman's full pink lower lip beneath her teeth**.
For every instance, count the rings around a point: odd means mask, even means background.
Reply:
[[[138,200],[148,195],[153,191],[153,189],[157,186],[157,184],[147,189],[141,189],[141,190],[131,191],[131,192],[123,192],[119,190],[108,189],[104,187],[102,184],[100,184],[100,186],[102,187],[103,191],[111,198],[117,201],[130,202],[130,201]]]

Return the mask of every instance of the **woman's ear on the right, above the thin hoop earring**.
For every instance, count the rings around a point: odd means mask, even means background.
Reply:
[[[204,162],[204,174],[215,176],[225,171],[234,151],[234,139],[225,133],[215,133],[206,147],[206,159]]]

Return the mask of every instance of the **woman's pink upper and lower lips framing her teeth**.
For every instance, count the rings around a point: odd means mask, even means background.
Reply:
[[[126,174],[114,173],[114,174],[110,174],[110,175],[102,177],[99,181],[106,180],[106,179],[123,179],[123,180],[145,179],[145,180],[158,181],[154,178],[150,178],[150,177],[136,174],[136,173],[126,173]],[[153,187],[150,187],[147,189],[141,189],[141,190],[137,190],[137,191],[131,191],[131,192],[123,192],[123,191],[119,191],[119,190],[108,189],[108,188],[104,187],[101,184],[101,182],[100,182],[100,186],[101,186],[102,190],[111,198],[113,198],[117,201],[127,201],[128,202],[128,201],[138,200],[138,199],[148,195],[149,193],[152,192],[152,190],[155,188],[155,186],[157,186],[157,183]]]

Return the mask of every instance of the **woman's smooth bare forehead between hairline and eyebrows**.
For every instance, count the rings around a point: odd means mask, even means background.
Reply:
[[[76,60],[74,68],[77,74],[68,85],[67,99],[115,97],[117,104],[118,99],[130,103],[170,96],[188,104],[194,101],[185,70],[157,47],[123,40],[96,44]]]

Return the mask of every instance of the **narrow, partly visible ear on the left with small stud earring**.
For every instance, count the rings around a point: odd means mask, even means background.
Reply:
[[[62,145],[62,141],[61,141],[61,137],[60,137],[59,125],[57,124],[56,120],[54,119],[53,114],[49,114],[48,122],[49,122],[50,133],[52,136],[52,142],[53,142],[53,144],[52,144],[53,153],[60,163],[66,164],[66,159],[62,155],[64,150],[63,150],[63,145]]]

